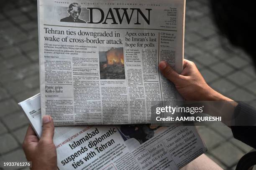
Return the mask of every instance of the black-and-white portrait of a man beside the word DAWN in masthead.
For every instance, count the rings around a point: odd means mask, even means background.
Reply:
[[[62,18],[61,22],[69,22],[69,23],[86,23],[84,20],[79,19],[79,15],[81,14],[82,7],[78,3],[72,3],[69,5],[68,13],[69,16]]]

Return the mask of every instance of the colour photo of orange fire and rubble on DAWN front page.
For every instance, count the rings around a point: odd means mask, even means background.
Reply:
[[[125,79],[123,47],[100,47],[100,79]]]

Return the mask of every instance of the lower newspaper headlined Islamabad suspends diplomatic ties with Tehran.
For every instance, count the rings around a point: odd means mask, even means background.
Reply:
[[[19,105],[40,138],[40,94]],[[194,126],[55,127],[60,170],[177,170],[204,153]]]

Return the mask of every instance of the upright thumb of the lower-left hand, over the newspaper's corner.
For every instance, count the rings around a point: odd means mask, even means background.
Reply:
[[[43,117],[43,132],[40,140],[53,142],[54,137],[54,123],[51,116]]]

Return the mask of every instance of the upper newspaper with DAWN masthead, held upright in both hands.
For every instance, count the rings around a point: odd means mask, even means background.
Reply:
[[[55,125],[141,124],[176,101],[185,0],[38,0],[42,115]]]

